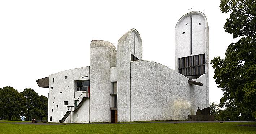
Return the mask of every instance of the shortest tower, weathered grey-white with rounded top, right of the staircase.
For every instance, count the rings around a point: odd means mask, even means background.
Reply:
[[[113,84],[110,68],[116,66],[116,48],[108,41],[93,40],[90,45],[90,120],[110,122]]]

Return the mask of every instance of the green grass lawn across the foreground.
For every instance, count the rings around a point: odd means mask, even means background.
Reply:
[[[129,124],[71,124],[28,125],[0,123],[1,134],[76,134],[76,133],[201,133],[255,134],[256,127],[238,126],[256,123],[129,123]]]

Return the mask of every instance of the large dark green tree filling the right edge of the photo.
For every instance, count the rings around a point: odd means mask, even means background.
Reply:
[[[215,57],[214,79],[222,89],[220,107],[223,118],[230,120],[255,120],[256,111],[256,1],[221,0],[220,11],[230,13],[224,29],[240,37],[226,50],[225,59]]]

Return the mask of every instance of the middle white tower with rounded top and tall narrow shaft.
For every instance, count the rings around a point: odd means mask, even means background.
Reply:
[[[134,38],[135,37],[135,38]],[[135,41],[134,41],[135,40]],[[135,43],[135,44],[134,44]],[[134,51],[135,50],[135,51]],[[117,102],[118,122],[130,117],[130,61],[131,54],[142,60],[142,41],[136,29],[131,29],[118,40],[117,47]]]

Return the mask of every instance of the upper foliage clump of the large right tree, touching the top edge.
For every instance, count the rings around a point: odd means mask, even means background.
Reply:
[[[239,36],[256,36],[256,0],[220,0],[220,11],[230,12],[225,32]]]

